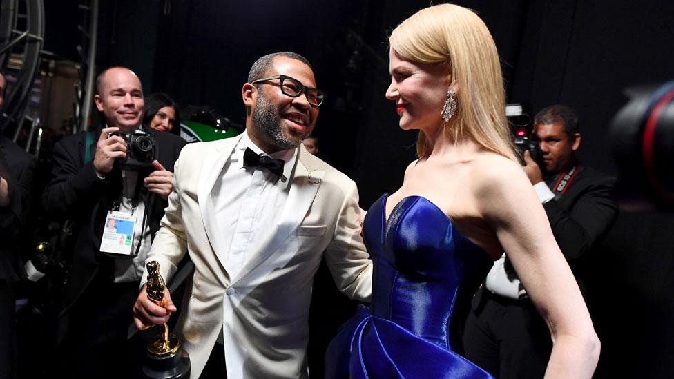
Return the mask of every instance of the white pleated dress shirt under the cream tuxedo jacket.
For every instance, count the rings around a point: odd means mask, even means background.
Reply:
[[[276,177],[266,168],[244,167],[246,148],[262,154],[262,150],[244,133],[211,191],[213,212],[225,246],[220,260],[225,262],[231,278],[250,259],[256,242],[263,240],[265,233],[276,230],[275,224],[288,198],[298,156],[297,148],[269,155],[285,161],[283,176]]]

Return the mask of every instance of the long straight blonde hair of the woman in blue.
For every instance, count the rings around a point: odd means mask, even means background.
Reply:
[[[448,64],[459,86],[454,141],[472,137],[478,144],[517,161],[505,119],[505,90],[499,55],[487,26],[472,11],[453,4],[422,9],[389,37],[401,57],[420,64]],[[426,153],[419,133],[416,153]]]

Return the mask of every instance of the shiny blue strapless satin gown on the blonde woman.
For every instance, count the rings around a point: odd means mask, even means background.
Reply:
[[[326,378],[492,378],[463,358],[470,298],[493,260],[425,197],[405,197],[385,220],[384,194],[363,225],[374,261],[372,305],[330,343]]]

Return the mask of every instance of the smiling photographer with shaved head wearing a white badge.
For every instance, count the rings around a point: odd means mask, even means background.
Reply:
[[[54,148],[44,206],[73,220],[67,247],[70,273],[62,321],[68,333],[59,349],[70,377],[131,376],[128,309],[151,240],[173,190],[173,164],[185,142],[140,128],[144,109],[139,78],[112,67],[96,79],[95,104],[106,125],[66,137]],[[115,229],[106,228],[110,219]]]

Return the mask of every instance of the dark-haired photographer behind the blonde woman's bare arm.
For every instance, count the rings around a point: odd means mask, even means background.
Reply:
[[[588,256],[617,217],[610,199],[615,178],[576,159],[581,134],[578,116],[568,106],[548,106],[537,113],[531,142],[521,148],[524,171],[586,296]],[[463,342],[466,358],[498,378],[543,378],[552,348],[550,333],[505,257],[494,262],[473,299]]]

